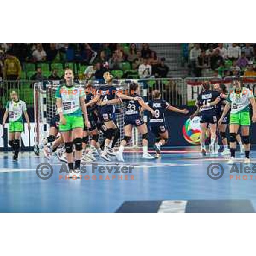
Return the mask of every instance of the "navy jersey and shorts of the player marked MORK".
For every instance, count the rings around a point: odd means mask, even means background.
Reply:
[[[164,113],[170,104],[163,99],[154,99],[148,102],[148,106],[156,112],[155,116],[152,116],[150,113],[150,130],[155,136],[158,136],[158,134],[164,133],[167,130]]]

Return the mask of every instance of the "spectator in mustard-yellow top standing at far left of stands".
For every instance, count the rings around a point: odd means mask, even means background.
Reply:
[[[12,55],[12,52],[6,52],[6,60],[4,61],[4,79],[19,80],[21,73],[21,65],[18,58]]]

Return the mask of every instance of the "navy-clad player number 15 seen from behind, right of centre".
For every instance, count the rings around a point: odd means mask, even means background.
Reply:
[[[216,128],[217,128],[217,112],[216,105],[221,100],[220,93],[214,90],[210,90],[209,83],[202,84],[202,91],[198,95],[196,105],[198,107],[197,111],[191,116],[192,118],[200,111],[201,112],[201,133],[200,133],[200,143],[201,143],[201,153],[206,154],[205,149],[205,133],[207,126],[209,125],[211,134],[211,143],[209,146],[209,152],[213,153],[214,145],[216,140]]]

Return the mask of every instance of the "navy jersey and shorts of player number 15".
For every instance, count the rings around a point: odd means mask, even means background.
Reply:
[[[201,91],[201,93],[198,95],[197,101],[199,107],[202,105],[206,105],[207,103],[214,102],[215,99],[220,97],[220,93],[214,90],[205,90]],[[216,124],[217,123],[217,109],[216,106],[210,106],[210,107],[204,107],[201,108],[201,123],[211,123]]]

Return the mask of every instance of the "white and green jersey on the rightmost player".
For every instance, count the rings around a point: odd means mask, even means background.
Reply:
[[[253,92],[245,87],[241,88],[240,93],[230,92],[227,101],[231,103],[231,113],[249,111],[250,98],[253,98]]]

